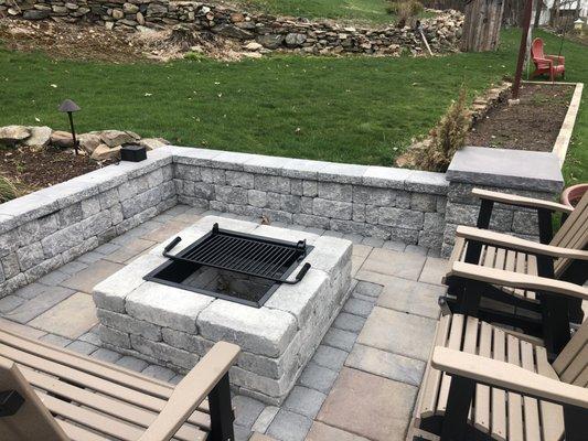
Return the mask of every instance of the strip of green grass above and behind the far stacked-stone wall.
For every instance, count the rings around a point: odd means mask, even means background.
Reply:
[[[344,19],[372,23],[391,23],[394,18],[386,12],[387,0],[240,0],[254,10],[268,13]]]

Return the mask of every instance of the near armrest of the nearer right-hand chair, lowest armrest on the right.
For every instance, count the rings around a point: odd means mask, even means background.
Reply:
[[[437,346],[432,352],[431,366],[449,375],[499,389],[588,409],[587,388],[545,377],[506,362]]]

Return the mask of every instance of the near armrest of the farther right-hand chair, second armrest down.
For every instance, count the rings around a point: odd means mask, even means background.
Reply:
[[[484,245],[493,245],[501,248],[523,251],[534,256],[550,256],[555,258],[588,260],[588,251],[581,249],[554,247],[553,245],[545,245],[527,239],[521,239],[516,236],[495,233],[489,229],[460,225],[456,229],[456,237],[462,237],[466,240],[479,241]]]

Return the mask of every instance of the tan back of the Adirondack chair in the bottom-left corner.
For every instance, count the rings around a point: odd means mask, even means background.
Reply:
[[[24,398],[22,407],[10,417],[0,417],[0,434],[11,441],[70,441],[43,406],[17,365],[0,356],[0,391],[15,390]],[[6,434],[6,438],[3,438]]]

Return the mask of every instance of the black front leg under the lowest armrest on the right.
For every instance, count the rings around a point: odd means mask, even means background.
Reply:
[[[451,376],[440,441],[467,440],[468,413],[474,390],[475,383],[471,379]]]

